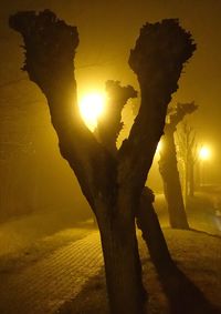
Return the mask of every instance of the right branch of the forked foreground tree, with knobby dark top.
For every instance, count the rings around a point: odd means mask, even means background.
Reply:
[[[164,133],[171,94],[178,89],[183,63],[194,49],[190,33],[178,20],[168,19],[145,24],[130,52],[129,65],[137,74],[141,104],[130,135],[119,150],[119,182],[131,184],[138,193]]]

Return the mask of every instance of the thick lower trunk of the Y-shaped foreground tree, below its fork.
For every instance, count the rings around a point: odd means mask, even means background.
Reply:
[[[107,216],[98,209],[97,222],[104,254],[106,284],[113,314],[145,313],[136,229],[131,211],[116,211]]]

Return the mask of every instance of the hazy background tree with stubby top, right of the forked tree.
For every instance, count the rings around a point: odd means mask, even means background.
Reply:
[[[165,134],[161,139],[159,172],[164,182],[165,197],[168,206],[169,222],[175,229],[189,229],[179,171],[177,166],[177,152],[175,144],[175,132],[179,122],[186,114],[193,112],[197,105],[191,103],[178,103],[175,112],[169,115],[169,122],[165,126]]]

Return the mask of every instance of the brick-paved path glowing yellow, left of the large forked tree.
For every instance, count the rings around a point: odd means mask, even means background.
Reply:
[[[0,314],[51,314],[103,265],[97,232],[18,273],[0,273]]]

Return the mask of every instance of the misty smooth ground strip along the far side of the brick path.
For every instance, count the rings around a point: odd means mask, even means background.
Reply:
[[[92,226],[88,222],[76,222],[74,211],[65,209],[14,217],[0,224],[0,257],[18,254],[20,251],[32,247],[39,240],[49,240],[50,236],[67,229],[74,230],[74,233],[72,232],[71,236],[66,234],[65,237],[70,236],[73,241],[80,236],[81,232],[86,233],[85,231]]]

